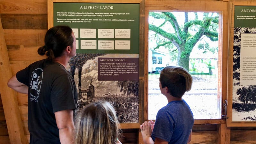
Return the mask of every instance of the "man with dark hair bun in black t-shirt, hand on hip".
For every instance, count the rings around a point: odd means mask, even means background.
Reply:
[[[68,26],[50,28],[38,54],[47,58],[30,64],[8,81],[17,92],[28,94],[30,144],[71,144],[77,91],[66,70],[76,55],[76,37]]]

